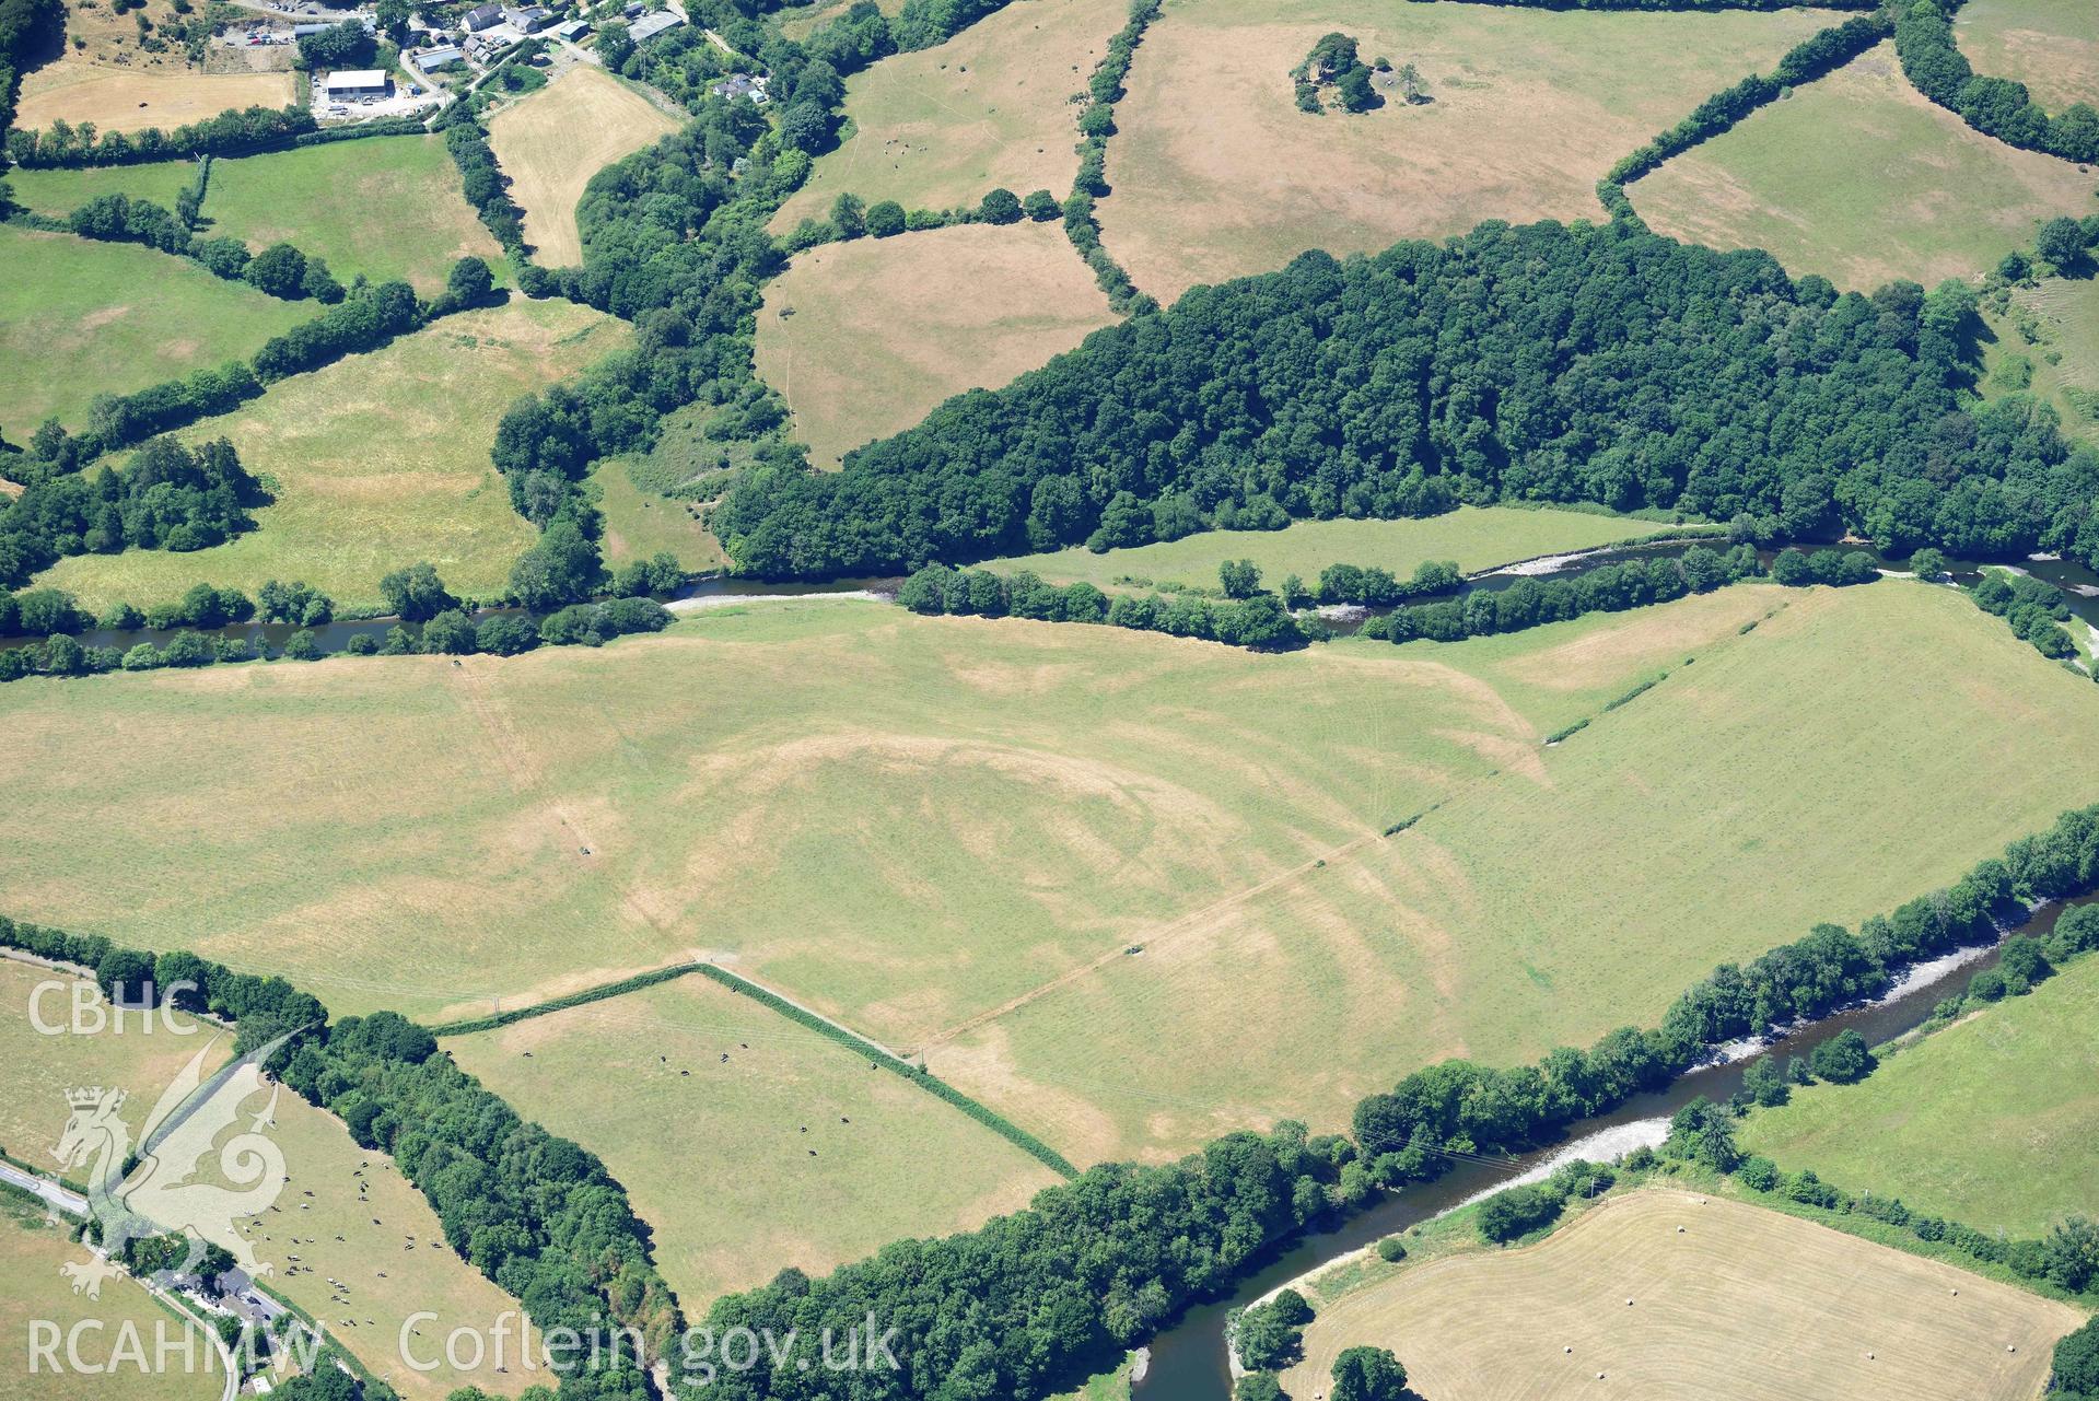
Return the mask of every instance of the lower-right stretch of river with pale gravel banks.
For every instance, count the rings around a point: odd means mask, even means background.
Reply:
[[[2099,896],[2053,902],[2034,910],[2013,933],[2044,935],[2055,929],[2061,912]],[[1411,1225],[1442,1216],[1486,1193],[1518,1181],[1536,1181],[1570,1158],[1610,1160],[1633,1147],[1660,1143],[1669,1118],[1704,1095],[1723,1101],[1742,1089],[1742,1076],[1759,1055],[1809,1055],[1839,1032],[1858,1032],[1870,1044],[1883,1044],[1931,1019],[1931,1009],[1967,979],[1996,963],[1996,948],[1971,948],[1956,956],[1935,958],[1900,977],[1895,988],[1877,1003],[1835,1011],[1820,1021],[1788,1030],[1769,1044],[1757,1042],[1730,1049],[1713,1063],[1690,1070],[1673,1084],[1648,1095],[1635,1095],[1610,1114],[1599,1114],[1568,1128],[1557,1143],[1518,1154],[1505,1162],[1455,1160],[1434,1183],[1421,1183],[1379,1198],[1373,1206],[1333,1225],[1333,1229],[1299,1235],[1285,1244],[1266,1267],[1241,1281],[1228,1298],[1215,1298],[1188,1309],[1180,1321],[1150,1342],[1150,1365],[1144,1380],[1131,1386],[1133,1401],[1230,1401],[1232,1376],[1224,1351],[1224,1319],[1232,1309],[1245,1309],[1264,1294],[1362,1250],[1377,1240]],[[2042,994],[2044,996],[2044,994]]]

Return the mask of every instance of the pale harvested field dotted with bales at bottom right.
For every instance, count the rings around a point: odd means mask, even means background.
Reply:
[[[1390,1346],[1425,1397],[2030,1401],[2084,1315],[1744,1202],[1627,1191],[1543,1242],[1402,1267],[1320,1309],[1293,1397]]]

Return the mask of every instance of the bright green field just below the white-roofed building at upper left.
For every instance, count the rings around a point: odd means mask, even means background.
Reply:
[[[487,258],[497,275],[508,266],[460,193],[460,168],[441,136],[336,141],[212,161],[204,218],[206,235],[258,252],[292,243],[319,256],[344,285],[363,273],[432,296],[460,258]]]

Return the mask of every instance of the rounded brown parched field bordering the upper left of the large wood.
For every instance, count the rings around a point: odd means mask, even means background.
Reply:
[[[817,468],[997,388],[1115,317],[1060,224],[961,224],[814,247],[766,285],[758,373]]]

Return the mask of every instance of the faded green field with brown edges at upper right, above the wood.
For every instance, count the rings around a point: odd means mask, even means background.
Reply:
[[[1870,292],[1994,268],[2042,220],[2089,214],[2099,174],[1971,130],[1883,44],[1627,193],[1658,233],[1763,247],[1795,277]]]

